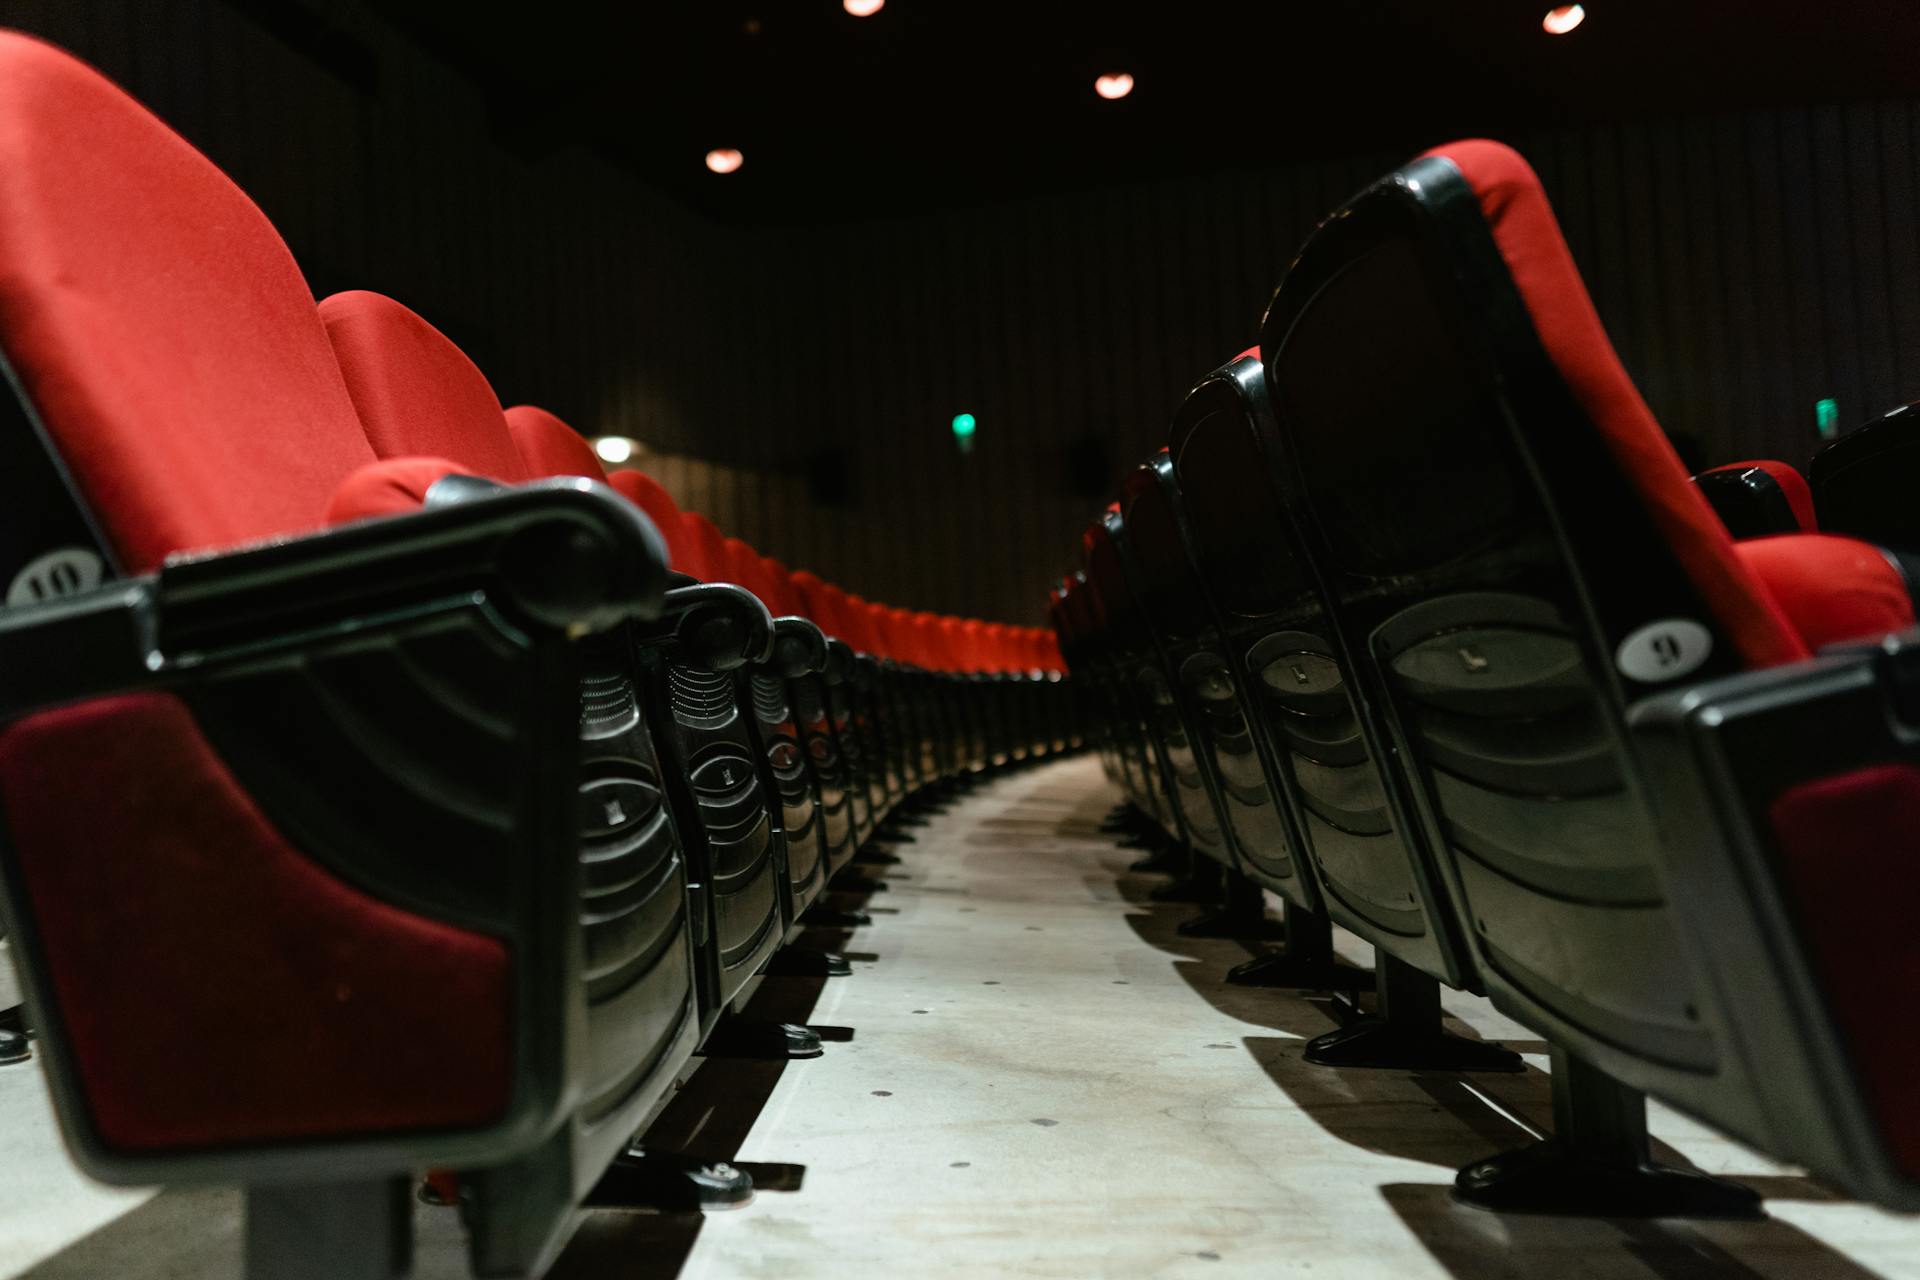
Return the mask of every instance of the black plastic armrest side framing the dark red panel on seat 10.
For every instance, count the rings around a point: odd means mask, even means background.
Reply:
[[[94,1176],[246,1182],[267,1159],[290,1180],[492,1167],[551,1138],[586,1096],[582,864],[568,821],[582,779],[574,637],[655,618],[664,555],[637,509],[586,480],[459,489],[419,512],[179,558],[0,610],[0,723],[102,695],[169,693],[300,858],[399,912],[497,938],[509,960],[509,1084],[492,1119],[127,1150],[90,1126],[94,1098],[19,890],[23,846],[0,842],[21,971],[58,1046],[54,1096]],[[138,858],[150,831],[169,839],[157,818],[131,827],[125,848],[88,856]],[[192,902],[173,902],[171,919],[198,921]]]

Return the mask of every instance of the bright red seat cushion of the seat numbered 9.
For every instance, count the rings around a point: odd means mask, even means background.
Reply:
[[[1914,624],[1912,595],[1870,543],[1834,533],[1782,533],[1734,545],[1791,620],[1807,649],[1874,639]]]

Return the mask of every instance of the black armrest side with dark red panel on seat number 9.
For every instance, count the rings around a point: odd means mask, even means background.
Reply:
[[[1905,1077],[1884,1069],[1908,1061],[1884,994],[1920,965],[1920,631],[1676,689],[1628,723],[1676,935],[1740,1029],[1768,1151],[1920,1203]]]

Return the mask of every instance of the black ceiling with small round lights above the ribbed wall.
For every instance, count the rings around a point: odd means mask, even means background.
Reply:
[[[728,221],[973,203],[1469,132],[1920,92],[1920,0],[376,0],[499,136]],[[1104,102],[1092,81],[1129,71]],[[718,177],[710,148],[745,163]]]

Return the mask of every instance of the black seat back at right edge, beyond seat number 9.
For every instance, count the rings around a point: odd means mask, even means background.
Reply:
[[[1920,405],[1903,405],[1812,455],[1820,528],[1920,551]]]

